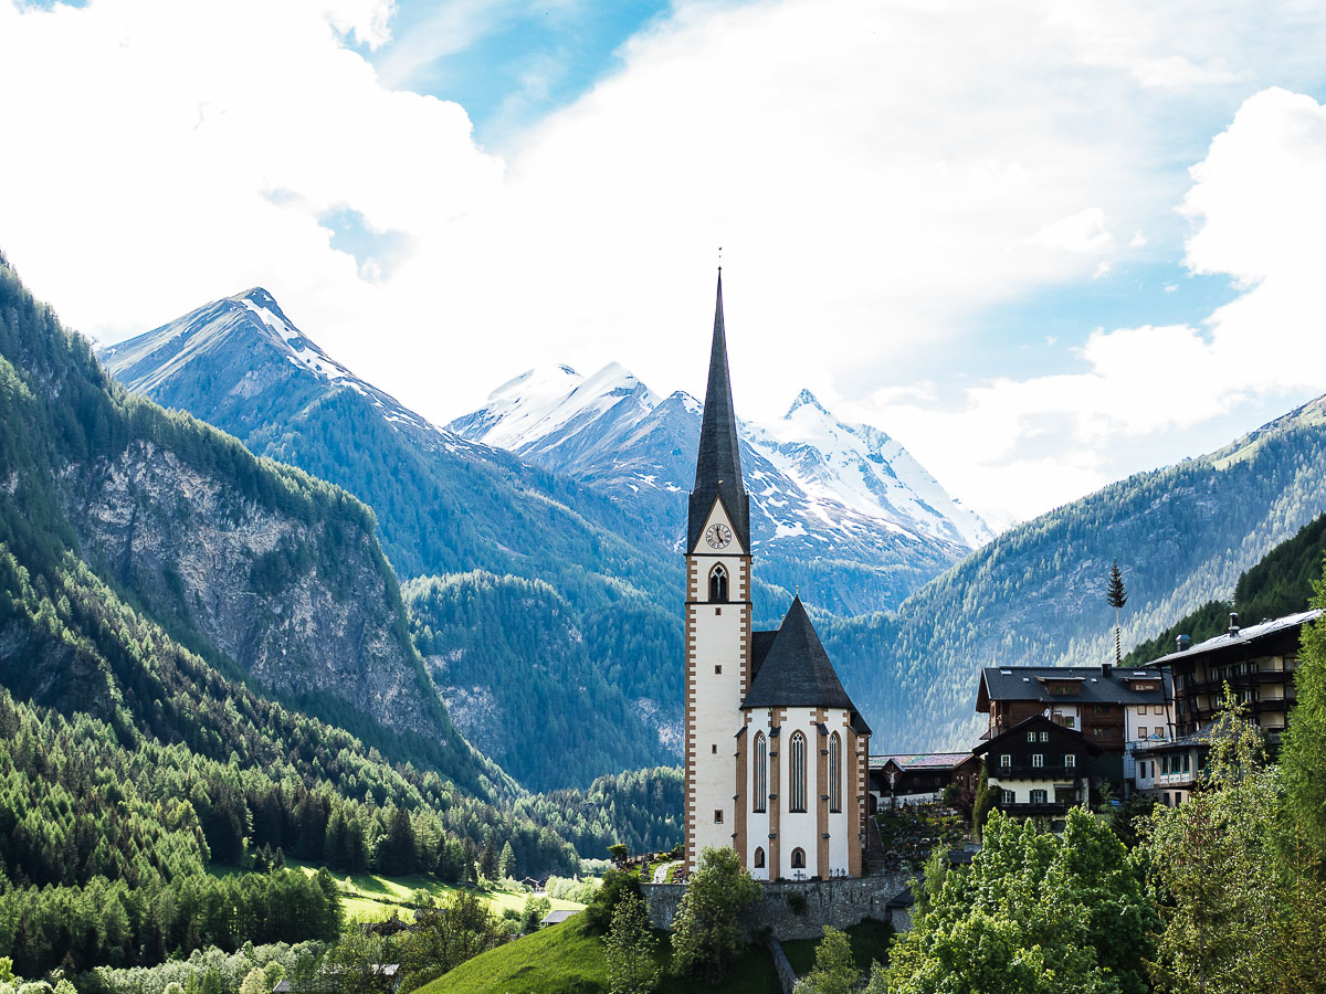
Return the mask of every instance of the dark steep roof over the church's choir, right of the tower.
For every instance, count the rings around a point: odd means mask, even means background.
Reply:
[[[782,627],[751,681],[743,708],[845,708],[855,714],[857,705],[842,689],[829,653],[819,643],[801,598],[792,602]],[[861,722],[866,733],[865,722]]]

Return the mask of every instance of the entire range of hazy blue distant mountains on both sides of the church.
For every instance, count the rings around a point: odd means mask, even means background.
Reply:
[[[326,355],[264,290],[102,360],[374,509],[387,555],[414,578],[414,639],[455,722],[521,783],[678,761],[693,398],[654,394],[615,364],[560,366],[438,428]],[[777,423],[741,425],[754,623],[782,616],[796,578],[878,751],[965,746],[980,667],[1113,656],[1101,583],[1114,558],[1131,645],[1228,598],[1326,509],[1323,411],[1318,399],[993,537],[895,440],[802,392]],[[500,734],[525,721],[556,729],[565,753]]]

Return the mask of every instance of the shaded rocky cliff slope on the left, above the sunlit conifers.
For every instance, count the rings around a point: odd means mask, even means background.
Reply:
[[[390,730],[480,793],[475,757],[410,640],[371,513],[126,394],[12,270],[0,266],[0,542],[32,582],[53,586],[88,563],[213,665],[312,713]],[[0,665],[41,702],[105,704],[94,685],[60,679],[60,644],[4,631]]]

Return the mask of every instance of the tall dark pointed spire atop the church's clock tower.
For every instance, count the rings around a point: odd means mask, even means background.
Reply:
[[[687,549],[695,549],[713,501],[732,521],[741,549],[751,550],[751,498],[741,485],[741,452],[737,444],[737,417],[732,408],[728,379],[728,341],[723,327],[723,269],[719,268],[719,296],[713,306],[713,346],[709,351],[709,383],[704,392],[704,419],[700,421],[700,455],[695,463],[695,489]]]

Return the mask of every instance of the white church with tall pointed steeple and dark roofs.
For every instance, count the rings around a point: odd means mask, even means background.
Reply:
[[[687,869],[727,846],[757,880],[861,876],[870,728],[800,596],[777,631],[751,631],[721,269],[686,535]]]

